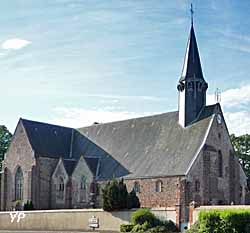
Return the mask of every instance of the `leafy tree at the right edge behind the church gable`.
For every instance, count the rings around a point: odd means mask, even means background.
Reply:
[[[241,136],[230,135],[236,155],[239,157],[242,168],[248,178],[250,178],[250,135]]]

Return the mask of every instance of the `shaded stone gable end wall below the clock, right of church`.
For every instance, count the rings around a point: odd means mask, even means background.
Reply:
[[[222,155],[222,173],[219,153]],[[215,116],[205,146],[187,176],[190,195],[186,205],[191,201],[198,205],[244,204],[239,189],[245,185],[244,177],[240,179],[240,165],[233,154],[225,122],[219,124]]]

